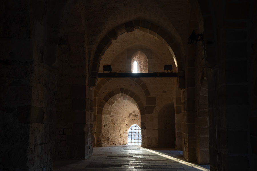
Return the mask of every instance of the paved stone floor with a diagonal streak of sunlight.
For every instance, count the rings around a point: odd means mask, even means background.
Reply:
[[[93,156],[87,160],[54,161],[55,171],[97,170],[170,170],[208,171],[208,165],[186,162],[182,151],[167,148],[142,148],[139,146],[94,147]]]

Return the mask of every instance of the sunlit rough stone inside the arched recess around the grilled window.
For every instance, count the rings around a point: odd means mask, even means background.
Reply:
[[[124,94],[118,94],[120,97],[115,101],[109,109],[105,104],[102,113],[102,146],[125,145],[127,144],[128,129],[132,124],[137,124],[140,127],[140,112],[136,106],[128,99],[123,99]]]

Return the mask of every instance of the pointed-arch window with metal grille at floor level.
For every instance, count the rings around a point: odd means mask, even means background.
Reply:
[[[141,129],[134,124],[128,129],[128,145],[141,145]]]

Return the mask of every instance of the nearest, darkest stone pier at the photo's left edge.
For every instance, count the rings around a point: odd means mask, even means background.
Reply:
[[[35,60],[30,3],[1,2],[1,21],[0,170],[51,170],[55,76]]]

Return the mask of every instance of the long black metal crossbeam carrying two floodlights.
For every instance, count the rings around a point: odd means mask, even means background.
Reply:
[[[141,77],[178,77],[176,72],[152,72],[152,73],[98,73],[98,78],[141,78]]]

